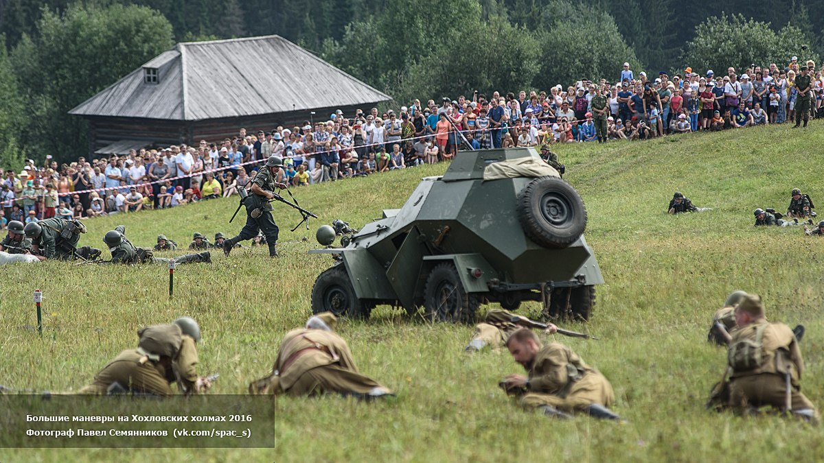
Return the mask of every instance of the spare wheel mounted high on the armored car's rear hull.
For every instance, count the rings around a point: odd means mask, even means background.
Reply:
[[[587,227],[583,199],[572,185],[558,177],[532,180],[518,194],[517,216],[527,236],[548,248],[573,244]]]

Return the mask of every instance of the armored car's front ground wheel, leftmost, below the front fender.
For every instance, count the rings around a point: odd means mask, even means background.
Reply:
[[[343,265],[325,270],[311,288],[311,311],[318,314],[330,311],[335,316],[369,318],[369,308],[355,294],[349,274]]]

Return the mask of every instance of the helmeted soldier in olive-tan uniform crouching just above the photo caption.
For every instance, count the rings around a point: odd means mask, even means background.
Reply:
[[[197,374],[200,327],[190,317],[180,317],[171,325],[153,325],[138,330],[138,348],[121,352],[95,381],[78,394],[136,393],[172,395],[171,383],[180,392],[199,394],[211,383]]]

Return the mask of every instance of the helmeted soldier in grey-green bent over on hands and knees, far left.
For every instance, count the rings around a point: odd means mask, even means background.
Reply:
[[[77,220],[65,220],[59,217],[46,218],[39,222],[26,223],[23,231],[31,240],[32,253],[39,254],[40,260],[73,260],[77,257],[93,260],[101,255],[101,250],[97,248],[90,246],[77,248],[80,234],[86,233],[86,226]]]

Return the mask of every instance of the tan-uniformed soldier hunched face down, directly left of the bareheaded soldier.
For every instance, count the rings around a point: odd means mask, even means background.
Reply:
[[[304,328],[289,331],[280,344],[272,374],[249,385],[250,394],[353,395],[372,399],[392,395],[355,367],[346,341],[335,334],[330,312],[312,316]]]

